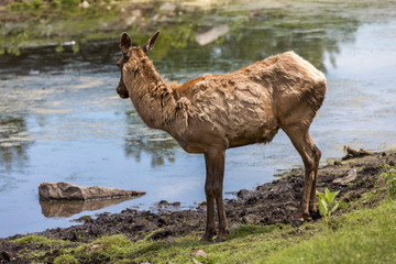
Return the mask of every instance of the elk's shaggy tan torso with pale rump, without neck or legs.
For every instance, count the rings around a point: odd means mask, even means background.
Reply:
[[[326,92],[322,73],[287,52],[224,75],[186,82],[189,119],[208,123],[229,146],[268,142],[294,110],[311,122]]]

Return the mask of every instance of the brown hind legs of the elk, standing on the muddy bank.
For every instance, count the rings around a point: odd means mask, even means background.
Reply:
[[[316,215],[316,185],[321,152],[308,133],[309,125],[299,123],[282,129],[300,154],[305,167],[302,197],[294,220],[310,220],[312,215]]]

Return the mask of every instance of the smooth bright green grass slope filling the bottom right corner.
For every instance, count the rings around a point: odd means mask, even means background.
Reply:
[[[268,263],[396,263],[396,202],[363,209],[338,219],[337,231],[327,230],[309,241],[284,249]]]

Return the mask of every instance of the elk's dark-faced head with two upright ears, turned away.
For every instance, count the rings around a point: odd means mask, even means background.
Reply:
[[[121,42],[120,42],[120,48],[122,52],[122,55],[120,57],[120,59],[117,62],[117,66],[120,68],[121,70],[121,78],[120,78],[120,82],[117,87],[117,94],[125,99],[129,98],[129,91],[124,85],[124,65],[129,64],[129,66],[131,68],[136,68],[138,62],[141,61],[141,58],[143,56],[147,56],[148,53],[151,52],[151,50],[154,47],[154,44],[156,42],[156,40],[158,38],[160,35],[160,31],[157,31],[152,37],[150,37],[150,40],[147,41],[147,43],[144,46],[136,46],[134,43],[132,43],[132,40],[130,37],[130,35],[128,33],[123,33],[121,36]]]

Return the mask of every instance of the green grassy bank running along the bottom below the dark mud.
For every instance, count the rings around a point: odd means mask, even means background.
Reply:
[[[299,228],[241,224],[223,243],[200,242],[197,234],[161,241],[117,234],[90,243],[28,235],[12,243],[34,245],[23,254],[36,263],[395,263],[396,200],[378,201],[387,191],[378,179],[360,199],[340,200],[331,228],[324,220]]]

